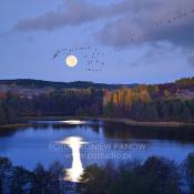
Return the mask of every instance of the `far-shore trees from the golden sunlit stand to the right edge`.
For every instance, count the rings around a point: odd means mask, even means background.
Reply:
[[[176,93],[159,86],[141,85],[108,92],[103,113],[111,118],[129,118],[136,121],[184,121],[194,119],[194,99],[184,100]]]

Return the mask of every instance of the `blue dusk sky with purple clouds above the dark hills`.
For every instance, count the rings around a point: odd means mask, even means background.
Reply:
[[[0,79],[159,83],[194,75],[194,0],[0,0]],[[102,71],[64,48],[103,52]],[[119,51],[119,52],[118,52]],[[94,69],[98,69],[95,64]]]

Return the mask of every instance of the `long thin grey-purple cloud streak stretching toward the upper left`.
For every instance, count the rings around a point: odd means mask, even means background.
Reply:
[[[13,31],[54,30],[67,25],[79,25],[100,18],[109,18],[126,12],[129,2],[124,0],[110,7],[92,4],[85,0],[73,0],[62,11],[50,11],[40,17],[20,20]]]

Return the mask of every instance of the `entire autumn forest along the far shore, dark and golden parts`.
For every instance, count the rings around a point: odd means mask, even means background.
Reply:
[[[183,96],[184,92],[192,95]],[[194,78],[119,89],[55,89],[30,96],[0,92],[0,124],[25,116],[104,116],[135,121],[194,121]]]

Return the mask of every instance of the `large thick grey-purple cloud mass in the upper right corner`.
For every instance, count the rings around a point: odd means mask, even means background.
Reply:
[[[194,45],[193,0],[131,0],[131,3],[134,4],[135,13],[126,12],[119,19],[108,21],[98,34],[102,43],[124,47],[170,41],[178,45]]]

